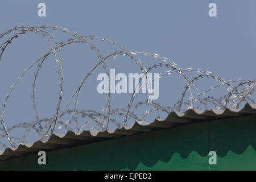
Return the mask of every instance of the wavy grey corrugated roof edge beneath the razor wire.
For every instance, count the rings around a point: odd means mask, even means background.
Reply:
[[[177,111],[172,111],[166,117],[166,119],[156,118],[153,122],[143,122],[143,121],[135,121],[131,126],[123,126],[120,128],[116,128],[114,130],[84,130],[81,133],[77,133],[76,131],[67,131],[65,134],[52,134],[51,137],[47,141],[38,140],[33,144],[28,143],[20,143],[17,148],[6,148],[5,150],[0,150],[0,160],[5,160],[5,158],[1,159],[2,156],[19,156],[22,152],[31,152],[38,151],[38,149],[54,149],[58,144],[62,143],[69,145],[72,143],[72,140],[77,140],[81,137],[80,140],[91,141],[93,138],[119,138],[127,135],[133,135],[134,133],[148,132],[154,130],[155,128],[162,127],[168,128],[171,127],[175,122],[181,122],[184,119],[184,122],[188,122],[191,119],[204,119],[209,117],[222,117],[222,116],[236,116],[242,113],[247,114],[256,114],[256,104],[247,103],[243,109],[225,109],[225,110],[196,110],[196,109],[188,109],[184,111],[184,113],[180,113]],[[181,120],[179,121],[180,118]],[[186,120],[187,119],[187,120]],[[190,120],[189,120],[190,119]],[[60,139],[60,140],[59,140]],[[61,140],[67,140],[67,142],[60,142]],[[70,141],[69,141],[70,140]],[[58,143],[58,141],[60,143]],[[97,140],[98,141],[98,140]],[[97,142],[96,141],[96,142]],[[94,141],[95,142],[95,141]],[[93,142],[92,142],[93,143]]]

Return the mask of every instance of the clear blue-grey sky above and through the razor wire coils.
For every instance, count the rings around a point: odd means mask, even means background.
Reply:
[[[38,16],[40,2],[46,3],[46,17]],[[210,2],[217,4],[217,17],[208,16]],[[192,67],[212,71],[225,80],[233,78],[253,80],[256,68],[255,7],[254,0],[2,0],[0,32],[22,24],[65,27],[80,35],[96,35],[115,40],[130,50],[158,53],[175,61],[180,68]],[[67,40],[67,36],[62,37],[60,32],[53,32],[53,35],[59,42]],[[99,43],[99,45],[103,53],[115,50],[108,43]],[[48,50],[49,47],[44,40],[34,34],[15,40],[0,62],[1,102],[16,77],[32,61]],[[63,104],[65,104],[82,77],[98,60],[89,47],[85,48],[81,45],[63,48],[62,53],[64,59]],[[39,73],[36,88],[36,103],[40,118],[52,117],[57,103],[56,64],[53,56],[47,61]],[[150,63],[154,64],[154,61],[151,60]],[[159,62],[160,60],[156,61],[156,63]],[[115,68],[117,72],[122,73],[139,72],[137,67],[127,61],[113,62],[109,68]],[[10,97],[5,114],[8,127],[19,122],[34,120],[30,97],[34,71],[35,69],[24,77],[24,81],[17,85]],[[104,107],[105,96],[98,94],[96,90],[97,75],[100,72],[104,72],[104,69],[96,71],[88,81],[86,89],[82,89],[79,109],[100,111]],[[208,84],[208,82],[201,84]],[[162,84],[160,82],[161,103],[174,104],[180,98],[184,85],[182,79],[176,78]],[[129,98],[114,96],[113,107],[127,105]],[[155,117],[153,115],[150,119]]]

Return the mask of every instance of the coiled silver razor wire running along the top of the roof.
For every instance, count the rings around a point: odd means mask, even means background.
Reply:
[[[55,37],[53,36],[52,32],[58,31],[63,32],[63,34],[67,34],[71,36],[66,41],[63,42],[57,42]],[[127,125],[127,121],[129,119],[132,119],[134,122],[146,122],[147,116],[150,113],[157,113],[157,117],[161,118],[161,113],[170,113],[171,111],[186,111],[187,109],[240,109],[242,104],[245,103],[253,103],[255,104],[255,101],[252,96],[255,94],[256,89],[256,80],[229,80],[225,81],[224,78],[218,77],[217,75],[214,75],[210,71],[203,71],[199,68],[193,69],[193,68],[179,68],[177,64],[168,59],[167,57],[160,56],[157,53],[148,53],[148,52],[140,52],[140,51],[131,51],[127,49],[126,47],[122,46],[121,44],[118,44],[117,42],[114,42],[113,40],[97,37],[94,35],[84,36],[79,35],[76,32],[69,31],[67,28],[59,28],[56,26],[38,26],[38,27],[31,27],[31,26],[15,26],[14,28],[11,28],[7,30],[6,32],[0,34],[0,40],[5,39],[7,36],[9,36],[5,41],[3,41],[0,44],[0,64],[2,60],[2,55],[5,52],[5,50],[14,42],[14,40],[18,39],[20,36],[28,34],[28,33],[35,33],[36,35],[39,35],[44,41],[46,41],[47,45],[49,46],[49,51],[39,57],[39,59],[32,62],[32,64],[25,69],[22,74],[16,78],[16,81],[13,85],[11,85],[9,92],[6,94],[5,100],[3,102],[3,108],[0,110],[1,115],[1,125],[0,127],[0,144],[2,146],[6,146],[6,144],[2,143],[1,140],[7,138],[13,147],[17,147],[16,142],[19,143],[25,143],[27,134],[30,133],[32,130],[38,133],[40,140],[47,140],[51,136],[51,134],[55,133],[56,130],[63,130],[66,131],[72,130],[75,131],[76,134],[80,134],[86,126],[93,123],[92,129],[99,130],[99,131],[105,131],[108,130],[109,123],[112,122],[117,128],[121,128]],[[50,33],[51,32],[51,33]],[[14,33],[13,35],[10,35],[11,33]],[[110,43],[110,45],[115,45],[119,47],[119,50],[115,52],[109,52],[108,55],[103,55],[100,51],[100,49],[96,46],[96,42],[106,42]],[[67,103],[64,104],[63,108],[61,108],[61,102],[63,100],[62,93],[63,93],[63,56],[61,55],[61,48],[64,46],[68,46],[69,44],[77,44],[81,43],[85,46],[89,46],[92,51],[94,51],[97,55],[96,64],[93,66],[92,69],[88,73],[85,74],[85,76],[82,78],[82,81],[77,86],[75,92],[69,97],[69,100]],[[42,68],[42,65],[46,62],[49,55],[53,55],[55,57],[55,63],[57,65],[57,73],[59,76],[59,98],[56,105],[56,111],[55,114],[51,118],[39,118],[38,111],[36,109],[36,94],[35,94],[35,88],[36,88],[36,82],[37,78],[39,76],[40,69]],[[111,95],[110,95],[110,79],[108,81],[108,89],[109,92],[106,96],[106,104],[104,106],[104,109],[102,111],[96,111],[96,110],[78,110],[77,109],[77,103],[79,101],[79,94],[82,86],[86,85],[86,80],[92,75],[92,73],[102,66],[106,72],[106,75],[109,77],[108,72],[108,61],[114,60],[120,56],[126,56],[131,61],[133,61],[138,68],[141,70],[141,73],[143,74],[143,77],[145,77],[147,84],[151,88],[152,85],[150,82],[151,79],[148,79],[147,73],[151,72],[153,69],[168,69],[168,71],[162,71],[158,79],[162,77],[172,76],[174,74],[179,75],[183,78],[185,88],[183,92],[181,92],[181,98],[179,101],[176,102],[173,106],[162,106],[160,105],[156,100],[149,100],[144,102],[137,102],[134,103],[135,98],[138,96],[138,93],[135,92],[135,90],[139,89],[139,92],[142,92],[143,89],[145,89],[145,85],[139,86],[141,84],[142,79],[139,80],[139,83],[135,86],[133,94],[131,94],[130,100],[127,103],[126,107],[121,107],[118,109],[113,109],[111,104]],[[147,56],[143,57],[143,61],[146,61],[148,57],[151,57],[152,59],[157,60],[158,62],[151,65],[148,68],[143,67],[141,59],[139,59],[137,56]],[[159,62],[160,60],[160,62]],[[11,93],[13,92],[13,89],[18,84],[20,79],[26,75],[28,71],[30,71],[31,68],[36,67],[36,71],[33,76],[33,82],[32,82],[32,109],[34,110],[34,117],[35,121],[27,122],[27,123],[19,123],[18,125],[14,125],[12,127],[6,127],[6,121],[5,121],[5,107],[8,103],[9,97],[11,96]],[[188,73],[193,73],[196,76],[193,76],[192,78],[189,77]],[[156,79],[156,78],[154,78]],[[203,79],[213,79],[218,82],[216,85],[210,86],[210,88],[202,90],[199,88],[199,86],[196,85],[196,82]],[[215,98],[213,96],[207,96],[206,94],[209,92],[214,92],[217,88],[220,88],[221,86],[225,86],[227,93],[224,96]],[[189,98],[185,100],[185,96],[189,95]],[[73,101],[73,108],[74,109],[67,109],[68,106],[71,104],[71,101]],[[139,115],[136,110],[138,107],[142,107],[145,111],[143,114]],[[67,121],[64,121],[62,118],[65,116],[71,115]],[[121,117],[117,119],[116,117]],[[78,120],[82,118],[81,126],[78,124]],[[86,119],[89,119],[86,121]],[[44,126],[42,125],[44,123]],[[75,123],[76,128],[74,129],[71,127],[71,123]],[[10,135],[10,131],[17,129],[17,128],[23,128],[26,130],[26,132],[23,134],[21,138],[12,137]],[[15,142],[16,141],[16,142]]]

